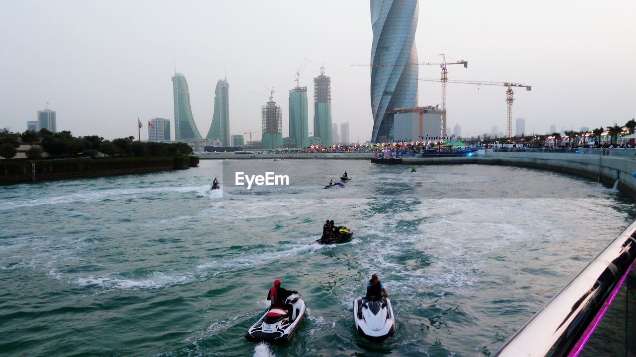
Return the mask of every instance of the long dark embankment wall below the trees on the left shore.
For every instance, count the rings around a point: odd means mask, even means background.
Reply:
[[[198,166],[197,156],[0,161],[0,184],[129,175]]]

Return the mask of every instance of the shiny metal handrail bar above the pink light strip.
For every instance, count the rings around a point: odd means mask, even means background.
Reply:
[[[553,297],[495,356],[576,356],[636,258],[636,221]]]

